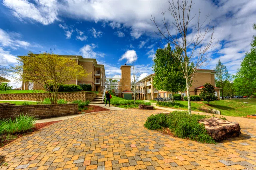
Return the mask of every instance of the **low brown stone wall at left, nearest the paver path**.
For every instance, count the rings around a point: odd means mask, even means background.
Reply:
[[[21,113],[40,119],[68,116],[78,114],[78,104],[0,106],[0,118],[15,118]]]

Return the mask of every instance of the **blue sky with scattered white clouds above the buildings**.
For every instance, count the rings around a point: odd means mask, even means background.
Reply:
[[[193,13],[210,14],[217,45],[204,68],[217,60],[235,74],[255,32],[256,0],[194,0]],[[56,54],[82,55],[105,64],[106,74],[120,74],[120,65],[136,56],[141,78],[152,73],[152,58],[160,38],[150,21],[161,25],[167,0],[3,0],[0,4],[0,64],[14,65],[17,55],[55,48]],[[193,32],[192,32],[193,33]],[[19,86],[19,84],[14,86]]]

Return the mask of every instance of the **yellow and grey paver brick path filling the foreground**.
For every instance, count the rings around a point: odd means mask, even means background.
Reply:
[[[159,110],[88,114],[45,127],[0,149],[1,169],[255,169],[256,120],[239,122],[240,137],[204,144],[143,127]]]

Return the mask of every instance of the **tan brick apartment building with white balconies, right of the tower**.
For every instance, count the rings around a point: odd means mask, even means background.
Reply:
[[[192,80],[192,85],[189,89],[190,95],[199,95],[203,88],[203,85],[205,83],[210,83],[215,87],[215,95],[218,96],[218,99],[220,99],[220,88],[216,87],[215,73],[216,72],[214,70],[198,69],[196,71],[195,77]],[[139,93],[139,95],[137,96],[138,99],[153,100],[155,97],[157,97],[157,94],[159,95],[159,97],[170,97],[170,95],[172,94],[171,92],[161,90],[158,91],[156,88],[154,88],[152,84],[154,81],[154,75],[155,73],[150,74],[137,82],[137,93]],[[178,93],[182,95],[182,99],[184,98],[184,96],[187,96],[187,91]]]

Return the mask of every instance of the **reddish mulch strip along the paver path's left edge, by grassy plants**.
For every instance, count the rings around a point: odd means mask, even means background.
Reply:
[[[19,137],[22,137],[22,136],[25,136],[25,135],[29,135],[31,134],[32,132],[34,131],[37,131],[41,128],[44,128],[48,125],[51,125],[51,124],[54,124],[54,123],[57,123],[57,122],[60,122],[60,121],[53,121],[53,122],[46,122],[46,123],[38,123],[38,124],[35,124],[35,128],[32,128],[30,131],[26,132],[26,133],[22,133],[22,134],[3,134],[2,136],[0,136],[0,148],[7,145],[8,143],[14,141],[15,139],[19,138]]]

